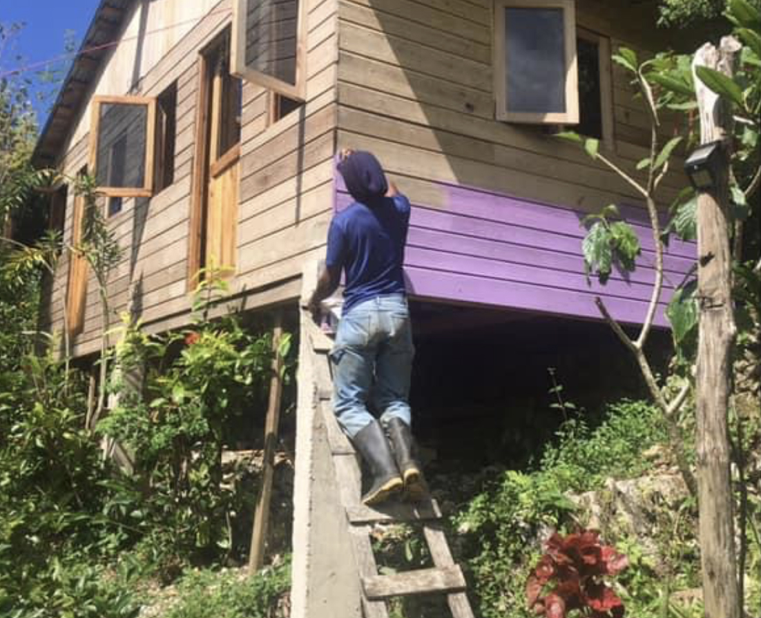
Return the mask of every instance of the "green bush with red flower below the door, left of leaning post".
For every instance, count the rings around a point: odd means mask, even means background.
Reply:
[[[240,557],[232,518],[253,497],[252,488],[223,483],[222,451],[250,435],[255,411],[265,409],[272,337],[235,316],[203,320],[220,290],[204,280],[196,323],[182,333],[147,336],[126,320],[110,383],[118,403],[97,427],[133,460],[134,476],[113,486],[119,499],[107,508],[140,530],[168,580],[188,561]]]

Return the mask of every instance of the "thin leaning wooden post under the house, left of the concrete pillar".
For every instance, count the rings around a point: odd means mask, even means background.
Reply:
[[[272,378],[269,382],[269,406],[264,426],[264,460],[262,466],[262,485],[259,498],[256,500],[256,511],[253,515],[253,530],[251,532],[251,549],[248,559],[250,572],[254,573],[264,564],[264,549],[269,523],[269,502],[272,498],[272,476],[275,473],[275,447],[278,440],[278,425],[280,422],[280,401],[282,400],[282,368],[283,358],[280,355],[282,340],[282,313],[275,315],[275,328],[272,330]]]

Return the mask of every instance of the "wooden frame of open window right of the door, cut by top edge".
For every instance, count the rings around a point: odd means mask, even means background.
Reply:
[[[233,0],[232,37],[230,50],[230,73],[253,84],[259,84],[290,99],[307,99],[307,8],[305,0],[298,0],[296,15],[296,83],[274,78],[256,71],[246,64],[246,20],[248,2]]]

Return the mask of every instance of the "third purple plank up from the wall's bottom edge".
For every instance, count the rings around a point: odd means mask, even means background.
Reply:
[[[413,227],[409,231],[407,247],[440,250],[463,256],[482,256],[489,260],[537,266],[558,272],[571,272],[576,275],[584,274],[584,259],[580,252],[575,255],[561,253],[540,247],[501,243],[488,238],[463,236],[446,231]],[[631,281],[651,285],[654,278],[653,269],[643,263],[639,263],[637,266],[633,272],[626,273],[626,277],[614,270],[610,279],[612,281]],[[664,287],[676,287],[680,277],[675,279],[677,282],[673,282],[671,277],[668,281],[664,281]]]

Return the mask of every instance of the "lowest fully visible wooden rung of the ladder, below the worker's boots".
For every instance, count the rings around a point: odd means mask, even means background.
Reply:
[[[375,575],[362,579],[368,599],[387,599],[410,594],[460,592],[466,588],[465,577],[458,565],[445,569],[419,569],[394,575]]]

